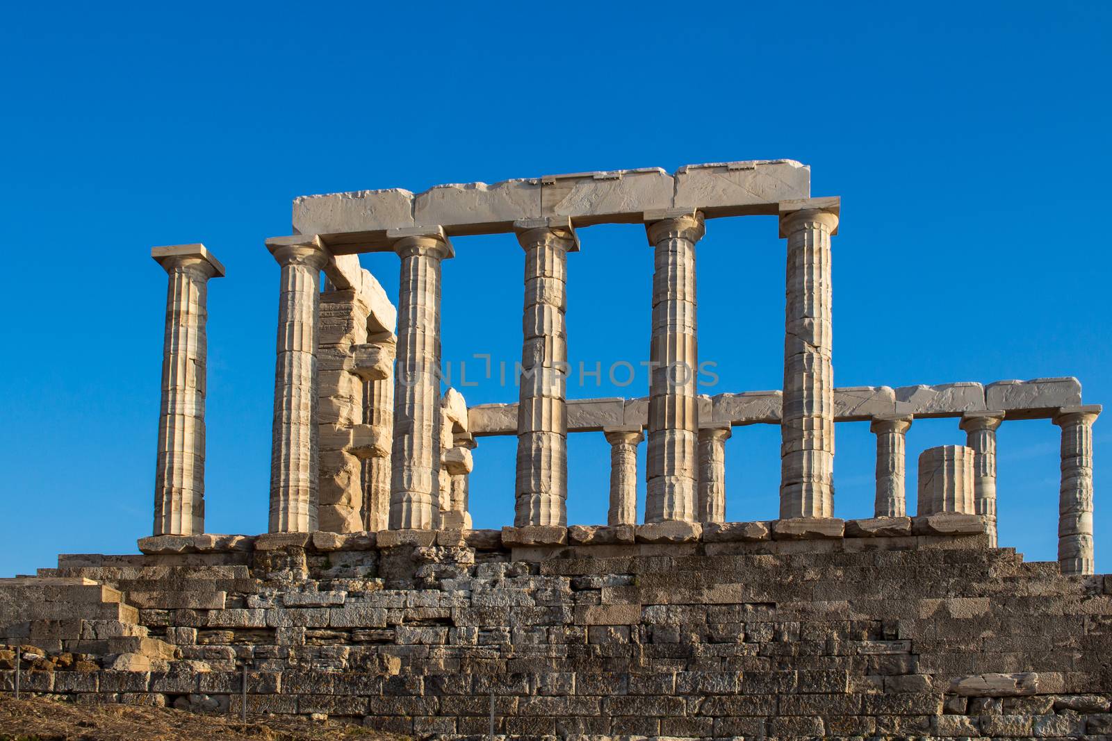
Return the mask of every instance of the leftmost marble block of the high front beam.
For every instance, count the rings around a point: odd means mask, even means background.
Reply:
[[[299,234],[385,231],[411,226],[413,193],[400,188],[294,199],[294,231]]]

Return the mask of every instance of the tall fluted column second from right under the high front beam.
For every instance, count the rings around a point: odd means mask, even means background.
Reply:
[[[646,213],[655,250],[645,522],[694,522],[698,458],[695,243],[703,214]]]

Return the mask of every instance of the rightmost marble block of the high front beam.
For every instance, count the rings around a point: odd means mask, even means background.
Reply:
[[[793,160],[685,164],[675,180],[673,207],[708,217],[771,214],[778,201],[811,197],[811,168]]]

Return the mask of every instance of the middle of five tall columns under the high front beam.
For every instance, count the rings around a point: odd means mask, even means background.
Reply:
[[[525,250],[525,316],[517,405],[514,524],[567,524],[567,253],[570,222],[518,221]]]

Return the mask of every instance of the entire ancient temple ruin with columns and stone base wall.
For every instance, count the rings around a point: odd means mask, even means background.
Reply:
[[[703,395],[697,246],[752,214],[778,216],[786,243],[783,389]],[[421,737],[485,733],[488,700],[499,733],[528,737],[1112,733],[1101,407],[1073,378],[835,388],[840,216],[790,160],[296,199],[294,233],[266,240],[280,283],[258,535],[205,529],[206,296],[224,267],[201,244],[156,248],[169,291],[153,534],[138,555],[62,555],[4,580],[2,638],[85,654],[83,672],[32,672],[38,691],[246,701]],[[566,266],[600,223],[644,229],[654,253],[651,383],[568,400]],[[496,233],[525,251],[518,398],[468,407],[440,373],[440,266],[453,238]],[[398,256],[396,309],[366,252]],[[909,517],[916,418],[954,419],[955,444],[917,457]],[[996,542],[996,430],[1030,419],[1061,430],[1058,563]],[[845,421],[876,434],[870,519],[835,510]],[[748,424],[781,428],[780,519],[726,522],[724,450]],[[605,524],[567,522],[577,432],[612,445]],[[479,530],[468,475],[490,435],[517,438],[514,519]],[[483,492],[507,519],[509,494]]]

